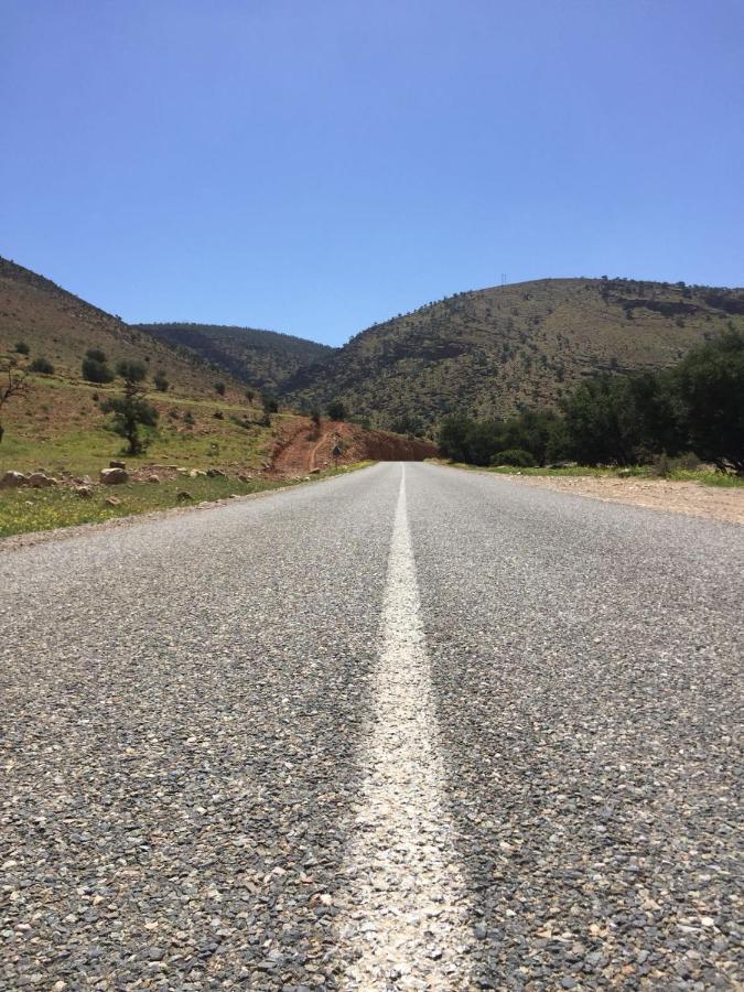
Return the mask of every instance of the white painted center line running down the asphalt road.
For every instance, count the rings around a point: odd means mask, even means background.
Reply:
[[[371,689],[365,781],[338,927],[342,988],[466,989],[472,941],[466,887],[444,801],[405,467]]]

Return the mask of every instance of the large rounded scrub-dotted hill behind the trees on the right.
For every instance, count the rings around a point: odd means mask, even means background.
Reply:
[[[625,279],[541,279],[457,293],[377,324],[300,368],[288,401],[343,400],[378,427],[554,406],[600,371],[666,367],[729,323],[744,290]]]

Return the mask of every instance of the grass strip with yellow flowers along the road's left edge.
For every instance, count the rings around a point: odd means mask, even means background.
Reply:
[[[356,468],[364,468],[371,462],[358,462],[328,468],[312,481],[343,475]],[[0,538],[36,530],[53,530],[74,527],[78,524],[100,524],[115,517],[147,514],[169,509],[174,506],[195,506],[204,500],[225,499],[233,494],[245,496],[269,489],[299,485],[293,479],[252,478],[240,482],[236,478],[176,478],[164,479],[160,484],[129,483],[122,486],[101,486],[94,489],[90,499],[82,499],[71,488],[60,486],[50,489],[12,489],[0,493]],[[177,494],[186,492],[192,499],[182,502]],[[109,506],[106,498],[116,496],[118,506]]]

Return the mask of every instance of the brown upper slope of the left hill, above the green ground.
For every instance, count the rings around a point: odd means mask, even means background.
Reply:
[[[0,354],[12,352],[19,341],[29,345],[32,358],[47,358],[68,378],[79,378],[88,348],[103,349],[112,366],[133,358],[151,373],[162,369],[172,388],[188,396],[212,396],[214,380],[224,378],[201,356],[179,353],[50,279],[0,258]]]

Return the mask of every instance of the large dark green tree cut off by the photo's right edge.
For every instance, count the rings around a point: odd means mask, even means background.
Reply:
[[[744,475],[744,333],[727,331],[694,348],[673,377],[696,454]]]

